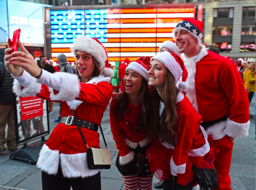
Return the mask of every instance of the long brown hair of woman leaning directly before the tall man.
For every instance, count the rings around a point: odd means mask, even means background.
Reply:
[[[161,116],[159,116],[159,102],[161,98],[155,87],[151,87],[150,90],[152,110],[150,111],[150,122],[147,127],[147,136],[149,139],[166,141],[171,145],[176,144],[176,125],[178,121],[176,99],[178,92],[179,89],[175,86],[175,79],[166,68],[165,108]]]

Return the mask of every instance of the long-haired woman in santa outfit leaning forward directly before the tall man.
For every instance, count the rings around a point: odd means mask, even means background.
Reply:
[[[213,148],[200,126],[202,117],[179,90],[188,86],[182,59],[173,53],[161,52],[151,58],[150,67],[153,110],[147,128],[151,146],[146,155],[151,172],[164,180],[164,190],[191,190],[195,184],[192,165],[213,169]],[[178,89],[175,85],[181,77],[183,82]]]

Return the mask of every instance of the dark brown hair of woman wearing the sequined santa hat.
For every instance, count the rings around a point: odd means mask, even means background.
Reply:
[[[142,127],[144,127],[145,129],[145,127],[148,125],[149,108],[150,108],[149,94],[150,94],[149,85],[146,79],[142,77],[142,86],[141,86],[140,95],[139,95],[139,102],[141,103],[141,107],[142,107],[141,109],[142,117],[139,121],[139,126],[135,128],[136,135],[138,135],[138,132]],[[126,114],[128,103],[129,103],[128,94],[126,93],[125,90],[123,90],[121,93],[115,96],[112,101],[116,101],[115,108],[112,110],[115,118],[119,121],[120,119],[123,120]],[[134,118],[134,119],[137,119],[137,118]]]

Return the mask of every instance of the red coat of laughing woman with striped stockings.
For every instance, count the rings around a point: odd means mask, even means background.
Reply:
[[[135,149],[138,144],[141,147],[147,145],[146,130],[141,128],[136,136],[136,129],[129,126],[129,123],[134,127],[138,126],[139,119],[141,118],[141,105],[134,106],[130,102],[126,109],[126,115],[123,120],[119,119],[120,116],[115,116],[113,110],[115,109],[117,99],[113,99],[110,104],[110,125],[113,139],[117,145],[120,154],[121,164],[129,163],[133,160],[133,154],[130,153],[128,147]]]

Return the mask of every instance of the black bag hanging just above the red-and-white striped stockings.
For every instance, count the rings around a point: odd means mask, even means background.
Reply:
[[[139,172],[141,172],[143,164],[145,163],[146,155],[134,152],[133,161],[125,165],[121,165],[119,160],[120,154],[118,152],[117,160],[115,160],[115,165],[117,166],[117,168],[125,173],[129,173],[130,175],[138,175]]]

